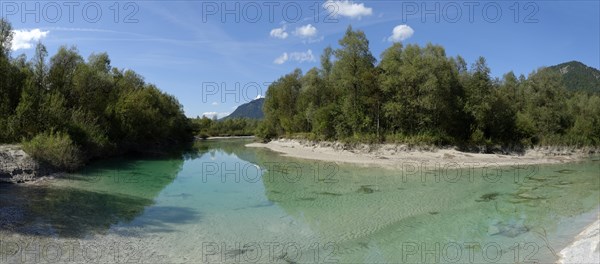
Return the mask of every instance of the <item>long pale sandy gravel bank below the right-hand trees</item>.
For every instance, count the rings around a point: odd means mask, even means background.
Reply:
[[[595,150],[575,148],[534,148],[517,154],[482,154],[462,152],[454,148],[411,148],[396,144],[357,144],[350,146],[339,142],[314,142],[296,139],[278,139],[268,143],[251,143],[247,147],[262,147],[283,156],[327,162],[375,165],[400,168],[406,163],[417,164],[468,164],[470,166],[510,166],[555,164],[580,160]]]

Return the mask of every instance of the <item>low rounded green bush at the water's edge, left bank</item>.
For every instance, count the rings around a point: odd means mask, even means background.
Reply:
[[[23,142],[23,150],[57,169],[72,171],[82,164],[79,148],[68,134],[62,132],[40,133]]]

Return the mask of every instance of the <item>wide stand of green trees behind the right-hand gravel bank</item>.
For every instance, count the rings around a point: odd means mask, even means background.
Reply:
[[[600,96],[567,91],[540,68],[493,78],[443,47],[394,43],[377,63],[364,32],[348,27],[320,67],[267,90],[257,135],[475,147],[600,145]]]

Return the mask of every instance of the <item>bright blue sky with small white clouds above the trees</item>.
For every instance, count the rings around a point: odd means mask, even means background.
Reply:
[[[378,59],[399,41],[439,44],[469,63],[484,56],[498,77],[571,60],[600,68],[599,2],[0,0],[0,15],[17,33],[13,56],[30,58],[38,40],[51,55],[61,45],[86,58],[107,52],[188,116],[223,116],[294,68],[318,66],[348,25]]]

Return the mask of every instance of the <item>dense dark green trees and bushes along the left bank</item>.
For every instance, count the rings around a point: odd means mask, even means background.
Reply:
[[[12,28],[0,20],[0,143],[23,143],[37,160],[73,170],[124,153],[160,152],[189,142],[191,122],[177,99],[106,53],[86,60],[75,47],[49,57],[11,56]]]

